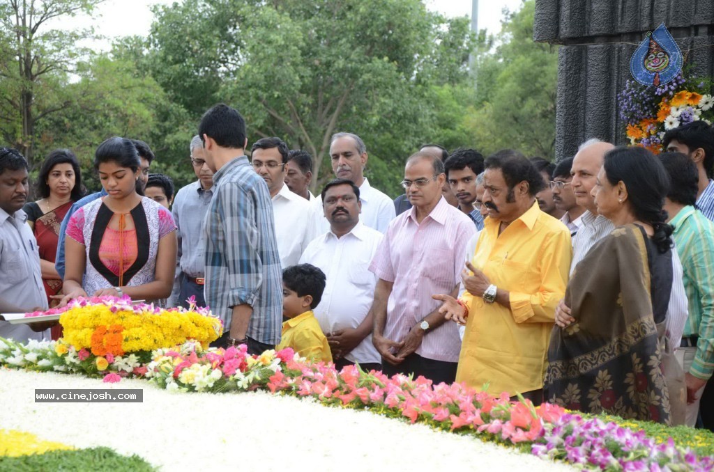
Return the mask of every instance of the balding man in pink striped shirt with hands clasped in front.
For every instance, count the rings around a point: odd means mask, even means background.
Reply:
[[[385,374],[456,379],[461,339],[446,323],[432,294],[458,294],[466,243],[476,232],[463,212],[446,202],[443,163],[416,153],[406,163],[403,187],[411,210],[389,225],[369,270],[378,277],[371,312],[373,344]]]

